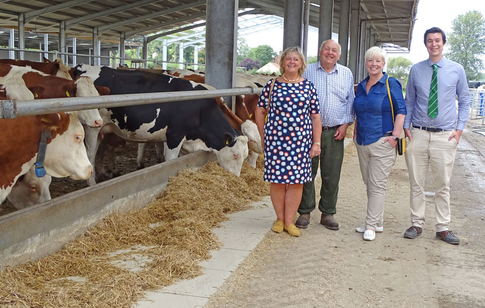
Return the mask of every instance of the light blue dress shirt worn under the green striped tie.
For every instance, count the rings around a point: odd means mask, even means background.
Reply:
[[[406,86],[404,129],[411,125],[436,127],[442,130],[463,130],[470,111],[470,93],[463,66],[442,57],[438,66],[438,115],[428,116],[428,98],[433,75],[433,61],[421,61],[411,67]],[[458,96],[458,120],[456,118]]]

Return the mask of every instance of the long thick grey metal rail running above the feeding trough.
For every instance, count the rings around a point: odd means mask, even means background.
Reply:
[[[234,88],[220,90],[197,90],[179,92],[158,92],[141,94],[107,95],[97,97],[64,97],[31,100],[0,100],[0,118],[45,113],[58,113],[95,108],[122,107],[165,103],[198,98],[211,98],[233,95],[251,95],[260,93],[262,88]]]

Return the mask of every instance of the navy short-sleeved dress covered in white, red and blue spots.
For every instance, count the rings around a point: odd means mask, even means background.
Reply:
[[[271,83],[266,83],[258,106],[267,108]],[[311,81],[275,81],[268,119],[264,124],[264,180],[302,184],[311,181],[310,148],[313,133],[310,114],[320,113]]]

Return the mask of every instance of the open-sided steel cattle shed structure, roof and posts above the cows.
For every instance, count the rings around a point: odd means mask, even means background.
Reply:
[[[319,46],[331,38],[332,33],[339,34],[340,63],[347,64],[349,51],[348,66],[358,81],[365,75],[360,59],[369,47],[383,46],[388,52],[409,51],[418,2],[2,0],[0,46],[56,50],[64,60],[70,60],[68,63],[88,63],[92,59],[94,65],[109,65],[108,57],[113,52],[124,58],[126,49],[136,49],[141,51],[139,57],[143,62],[148,59],[147,44],[151,41],[177,32],[202,29],[197,30],[198,35],[187,33],[183,40],[172,43],[179,44],[182,50],[191,46],[195,50],[206,49],[207,83],[216,88],[230,88],[234,85],[238,28],[259,31],[270,26],[283,27],[282,49],[299,45],[306,50],[307,29],[312,26],[319,29]],[[274,16],[274,19],[261,19],[262,16]],[[246,32],[240,31],[239,35],[243,33]],[[346,44],[349,38],[350,45]],[[0,52],[2,58],[22,59],[27,54],[8,49]],[[39,59],[38,54],[30,56],[30,60]]]

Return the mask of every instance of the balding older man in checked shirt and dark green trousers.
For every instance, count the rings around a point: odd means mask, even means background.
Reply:
[[[339,194],[340,171],[343,162],[343,139],[352,125],[354,113],[354,78],[350,69],[339,65],[340,45],[327,40],[320,46],[320,62],[307,65],[303,77],[313,82],[317,89],[322,117],[322,152],[311,160],[312,181],[303,185],[303,196],[298,208],[300,217],[295,225],[307,228],[310,212],[315,209],[315,185],[318,162],[322,188],[318,209],[322,212],[320,223],[331,230],[338,230],[335,220],[337,195]]]

